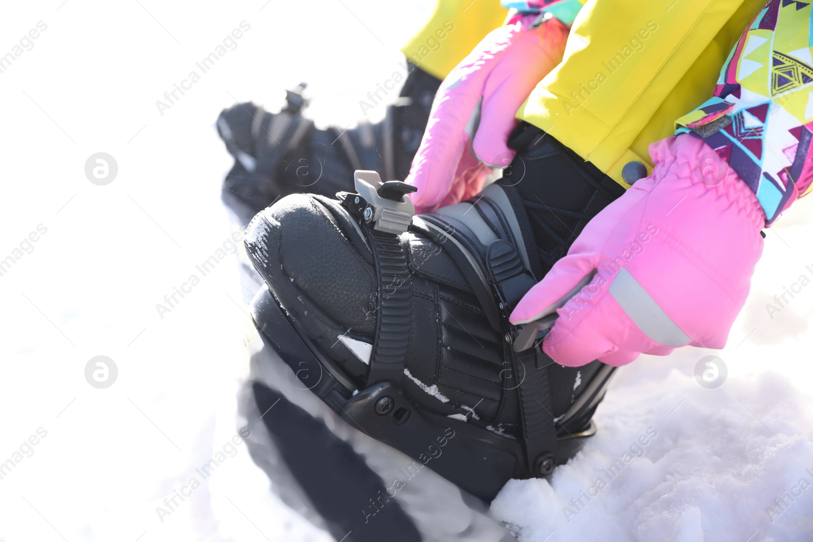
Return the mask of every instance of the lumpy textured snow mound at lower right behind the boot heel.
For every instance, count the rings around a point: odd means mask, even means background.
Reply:
[[[620,369],[636,374],[611,387],[597,436],[550,483],[506,484],[498,518],[520,542],[813,540],[809,398],[772,372],[716,389],[650,375],[662,361]]]

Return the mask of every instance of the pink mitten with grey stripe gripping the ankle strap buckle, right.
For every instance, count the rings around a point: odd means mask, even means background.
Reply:
[[[596,215],[511,314],[559,314],[542,349],[562,365],[722,348],[746,301],[765,225],[754,193],[697,137],[653,143],[650,156],[652,176]]]

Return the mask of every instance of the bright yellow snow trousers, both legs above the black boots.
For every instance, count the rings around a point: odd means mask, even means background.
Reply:
[[[417,54],[412,58],[434,76],[446,76],[502,24],[506,11],[495,3],[439,2],[403,52]],[[588,0],[573,21],[562,63],[516,116],[628,187],[624,165],[641,162],[651,171],[650,143],[671,136],[676,119],[711,97],[729,52],[762,7],[749,0]],[[454,30],[437,50],[421,50],[446,21]]]

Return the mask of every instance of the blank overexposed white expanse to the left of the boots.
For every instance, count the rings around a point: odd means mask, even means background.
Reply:
[[[155,305],[232,231],[220,111],[276,111],[282,89],[307,81],[311,114],[346,126],[433,5],[62,2],[0,18],[0,54],[48,25],[0,73],[0,258],[48,228],[0,276],[0,462],[47,431],[0,479],[0,540],[329,540],[272,496],[245,444],[159,521],[155,507],[237,430],[250,324],[233,256],[163,319]],[[243,20],[237,49],[160,115],[155,101]],[[107,186],[85,177],[97,152],[118,163]],[[84,376],[100,354],[119,369],[102,390]]]

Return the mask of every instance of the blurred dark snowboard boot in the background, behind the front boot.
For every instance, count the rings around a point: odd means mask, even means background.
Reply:
[[[302,116],[305,83],[286,91],[279,113],[238,103],[220,113],[217,129],[235,158],[224,180],[223,197],[244,220],[291,193],[331,196],[353,189],[353,171],[378,171],[385,180],[403,179],[429,118],[441,81],[418,67],[409,74],[385,119],[365,120],[350,129],[315,128]]]

